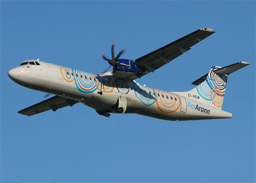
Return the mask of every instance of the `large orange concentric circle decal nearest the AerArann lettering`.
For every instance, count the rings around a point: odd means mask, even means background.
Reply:
[[[178,95],[156,89],[153,91],[156,93],[156,105],[163,113],[173,113],[180,108],[181,102]]]

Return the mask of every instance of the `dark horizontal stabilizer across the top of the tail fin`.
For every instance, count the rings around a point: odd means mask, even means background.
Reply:
[[[216,74],[229,75],[229,74],[231,74],[231,73],[233,73],[233,72],[235,72],[239,69],[242,69],[242,68],[244,68],[245,66],[248,66],[248,65],[250,65],[250,63],[248,63],[248,62],[238,62],[236,64],[231,64],[229,66],[214,70],[213,72],[216,73]],[[204,82],[204,80],[207,78],[207,76],[208,76],[208,74],[202,76],[198,80],[194,81],[192,84],[196,85],[196,86],[200,85],[202,82]]]

